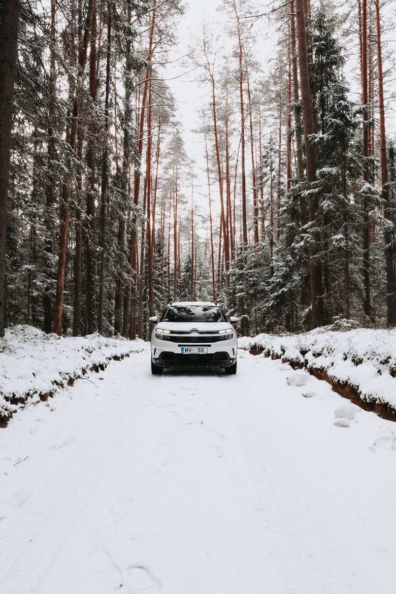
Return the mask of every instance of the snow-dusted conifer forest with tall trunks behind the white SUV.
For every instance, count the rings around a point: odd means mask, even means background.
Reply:
[[[1,0],[0,336],[396,326],[392,2],[218,0],[182,52],[188,10]]]

